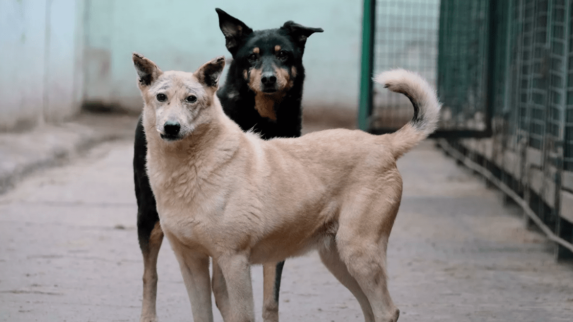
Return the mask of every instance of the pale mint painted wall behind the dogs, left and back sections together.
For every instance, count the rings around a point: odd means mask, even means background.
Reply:
[[[215,7],[253,29],[322,27],[307,41],[303,104],[356,109],[362,1],[0,0],[0,131],[62,121],[90,102],[139,111],[132,51],[164,70],[229,57]]]

